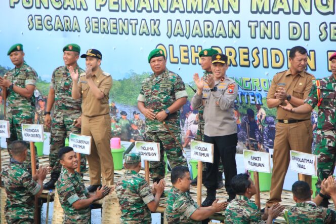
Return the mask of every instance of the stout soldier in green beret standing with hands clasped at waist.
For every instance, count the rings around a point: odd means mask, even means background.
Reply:
[[[150,162],[150,175],[154,182],[164,178],[164,152],[171,167],[184,165],[181,145],[179,109],[187,102],[187,91],[181,77],[166,68],[162,50],[150,52],[148,62],[153,74],[146,78],[138,96],[138,108],[146,117],[147,141],[160,143],[160,161]]]

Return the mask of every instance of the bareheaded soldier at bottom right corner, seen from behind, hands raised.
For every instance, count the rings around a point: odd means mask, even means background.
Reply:
[[[312,190],[305,181],[296,181],[291,187],[293,200],[297,203],[287,212],[288,223],[336,223],[336,212],[334,210],[317,207],[325,198],[330,195],[333,203],[336,202],[336,184],[332,176],[324,179],[321,183],[320,194],[312,201]]]

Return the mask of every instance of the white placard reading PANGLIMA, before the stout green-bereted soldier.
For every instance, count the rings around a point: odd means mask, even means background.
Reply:
[[[160,161],[160,143],[136,141],[135,148],[142,160]]]

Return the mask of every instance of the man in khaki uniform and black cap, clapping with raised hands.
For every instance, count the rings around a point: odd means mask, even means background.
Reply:
[[[80,56],[86,58],[87,69],[80,74],[70,67],[72,79],[72,98],[82,97],[81,134],[92,136],[91,154],[87,156],[90,168],[89,192],[95,192],[101,185],[113,184],[113,159],[110,149],[111,117],[108,105],[112,77],[100,68],[102,54],[96,49],[89,49]]]

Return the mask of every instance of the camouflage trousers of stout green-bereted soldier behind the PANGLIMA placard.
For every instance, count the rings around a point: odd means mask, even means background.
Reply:
[[[179,143],[177,143],[169,132],[147,132],[147,141],[160,143],[160,161],[149,162],[149,173],[152,179],[162,179],[165,174],[164,152],[172,168],[176,166],[186,166],[187,160],[183,157],[183,153]],[[179,132],[174,133],[175,138],[181,142]]]

